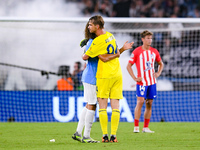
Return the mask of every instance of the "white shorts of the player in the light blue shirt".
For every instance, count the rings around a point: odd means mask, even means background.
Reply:
[[[95,105],[97,103],[96,85],[83,82],[84,101],[88,104]]]

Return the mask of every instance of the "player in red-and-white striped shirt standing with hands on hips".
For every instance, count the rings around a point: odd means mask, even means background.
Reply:
[[[147,30],[141,33],[143,45],[137,47],[131,54],[127,70],[133,80],[137,82],[136,95],[137,105],[135,107],[134,131],[139,132],[139,119],[141,109],[146,100],[146,108],[144,112],[143,132],[154,133],[148,126],[151,118],[153,99],[156,98],[156,78],[158,78],[163,70],[163,62],[157,49],[151,47],[153,33]],[[158,72],[154,70],[154,63],[158,63]],[[137,68],[137,76],[134,75],[132,65]]]

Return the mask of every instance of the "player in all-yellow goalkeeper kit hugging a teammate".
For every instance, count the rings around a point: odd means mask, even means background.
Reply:
[[[117,57],[109,60],[103,60],[101,57],[104,55],[117,55],[123,51],[132,48],[133,42],[125,43],[119,50],[116,44],[115,37],[104,31],[104,20],[101,16],[93,16],[89,19],[88,29],[90,33],[94,33],[97,37],[93,40],[90,48],[83,55],[83,59],[95,58],[98,56],[97,67],[97,97],[99,102],[99,119],[103,132],[102,142],[118,142],[116,132],[119,125],[120,112],[119,112],[119,99],[123,98],[122,95],[122,72]],[[107,104],[108,98],[112,107],[111,116],[111,136],[108,139],[108,116]]]

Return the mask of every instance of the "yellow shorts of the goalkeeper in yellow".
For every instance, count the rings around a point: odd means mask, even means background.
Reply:
[[[97,78],[97,97],[110,98],[110,99],[122,99],[122,76],[114,78]]]

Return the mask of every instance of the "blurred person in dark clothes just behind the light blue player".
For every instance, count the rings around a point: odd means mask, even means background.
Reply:
[[[81,62],[77,61],[74,63],[74,71],[72,73],[74,80],[74,90],[83,90],[83,84],[81,82],[83,70],[81,70],[81,67]]]

